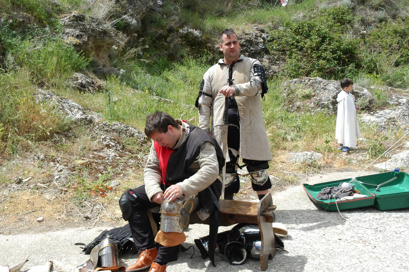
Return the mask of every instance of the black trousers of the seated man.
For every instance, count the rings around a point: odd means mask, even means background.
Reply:
[[[162,190],[164,191],[164,187],[162,187]],[[136,187],[135,189],[133,189],[133,192],[137,196],[137,200],[133,204],[133,215],[128,218],[128,223],[138,253],[142,252],[142,250],[145,249],[149,250],[151,248],[157,247],[158,252],[155,260],[157,263],[162,262],[163,265],[164,263],[178,260],[180,245],[165,247],[163,245],[155,243],[155,237],[153,237],[152,227],[145,209],[160,207],[160,205],[155,202],[151,202],[148,199],[145,191],[145,185]],[[202,205],[199,199],[199,204],[195,211],[199,210],[201,207]],[[159,229],[160,214],[152,215],[153,219],[158,224]]]

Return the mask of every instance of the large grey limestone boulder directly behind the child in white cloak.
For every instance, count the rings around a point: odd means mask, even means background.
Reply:
[[[341,91],[339,81],[301,77],[286,81],[282,87],[285,97],[283,106],[290,112],[337,112],[337,95]],[[362,110],[370,110],[373,107],[372,94],[365,88],[354,85],[352,94]]]

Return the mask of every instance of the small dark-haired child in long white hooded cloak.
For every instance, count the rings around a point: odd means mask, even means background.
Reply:
[[[356,148],[356,137],[361,137],[356,114],[359,107],[355,105],[355,97],[351,94],[353,84],[351,79],[342,79],[342,91],[337,96],[338,111],[335,139],[338,140],[338,149],[342,152],[348,152],[351,148]]]

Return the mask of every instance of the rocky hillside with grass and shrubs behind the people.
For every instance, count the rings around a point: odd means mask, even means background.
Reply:
[[[230,27],[269,78],[272,190],[364,168],[387,149],[377,168],[409,167],[405,0],[3,0],[0,8],[1,225],[120,220],[119,196],[143,182],[145,116],[163,110],[197,124],[199,83]],[[334,139],[343,77],[354,80],[362,109],[362,139],[348,154]],[[238,199],[255,199],[243,182]]]

